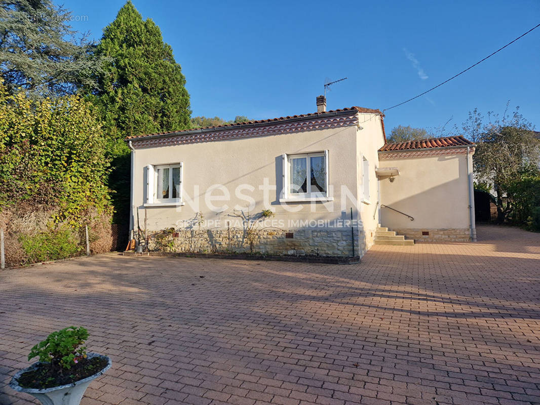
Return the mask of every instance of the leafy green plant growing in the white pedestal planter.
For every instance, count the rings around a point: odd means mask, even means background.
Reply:
[[[39,357],[39,361],[49,363],[57,369],[70,369],[79,360],[86,359],[88,330],[83,327],[70,326],[53,332],[47,339],[32,347],[28,360]]]

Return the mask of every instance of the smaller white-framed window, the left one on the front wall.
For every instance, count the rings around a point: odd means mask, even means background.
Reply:
[[[146,204],[176,205],[182,198],[183,164],[148,165]]]

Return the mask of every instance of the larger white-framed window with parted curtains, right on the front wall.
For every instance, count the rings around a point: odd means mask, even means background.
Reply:
[[[327,199],[328,151],[283,156],[282,200]]]

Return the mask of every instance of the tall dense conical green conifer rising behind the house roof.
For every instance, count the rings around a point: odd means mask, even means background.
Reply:
[[[105,28],[96,56],[107,58],[90,98],[117,144],[126,136],[190,126],[186,79],[159,27],[128,1]]]

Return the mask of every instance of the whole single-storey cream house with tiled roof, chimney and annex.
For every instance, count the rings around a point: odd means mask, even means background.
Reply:
[[[379,224],[417,240],[474,239],[474,144],[387,144],[383,117],[326,111],[320,96],[315,113],[126,138],[130,228],[176,251],[360,257],[399,242]]]

